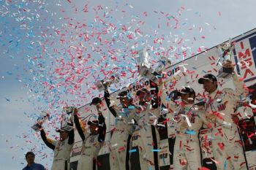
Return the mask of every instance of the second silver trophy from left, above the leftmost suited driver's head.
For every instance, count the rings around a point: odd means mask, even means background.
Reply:
[[[73,127],[73,117],[75,112],[75,107],[64,107],[64,115],[62,115],[61,129],[64,131],[72,131]]]

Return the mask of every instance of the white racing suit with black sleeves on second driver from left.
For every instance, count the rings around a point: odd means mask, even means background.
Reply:
[[[78,120],[78,115],[74,115],[74,122],[83,140],[77,170],[96,170],[97,155],[105,140],[105,118],[99,115],[98,134],[89,134],[83,126],[83,123],[80,123]]]

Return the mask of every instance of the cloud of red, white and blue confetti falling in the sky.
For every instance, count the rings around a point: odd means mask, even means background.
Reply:
[[[7,70],[4,77],[16,76],[23,83],[36,112],[51,112],[53,129],[59,127],[61,107],[81,107],[99,96],[94,85],[97,80],[118,73],[121,82],[116,89],[135,82],[136,51],[146,48],[153,64],[161,55],[173,63],[184,60],[196,51],[193,42],[206,39],[203,27],[210,26],[195,26],[184,18],[185,12],[200,17],[199,12],[186,7],[174,12],[138,12],[124,1],[111,1],[109,6],[89,1],[58,1],[52,5],[48,1],[1,1],[4,29],[0,45],[5,57],[23,63],[15,66],[18,74]],[[187,31],[198,36],[189,37]],[[23,115],[37,120],[38,114]],[[31,141],[39,138],[33,134],[30,130],[17,137],[26,140],[25,147],[40,152],[41,159],[49,157],[44,144],[31,148]],[[54,134],[52,137],[57,138]]]

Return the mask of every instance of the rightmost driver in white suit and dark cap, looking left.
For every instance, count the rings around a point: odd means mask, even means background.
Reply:
[[[233,74],[236,89],[218,89],[217,78],[206,74],[198,80],[208,93],[206,115],[212,128],[212,145],[217,169],[246,169],[243,144],[233,123],[235,108],[241,95],[246,95],[243,83]]]

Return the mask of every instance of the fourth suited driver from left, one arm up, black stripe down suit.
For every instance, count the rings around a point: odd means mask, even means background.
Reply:
[[[159,134],[155,125],[159,117],[157,84],[150,82],[151,92],[143,88],[136,95],[139,98],[139,130],[132,134],[132,147],[138,147],[140,169],[159,169],[158,144]]]

